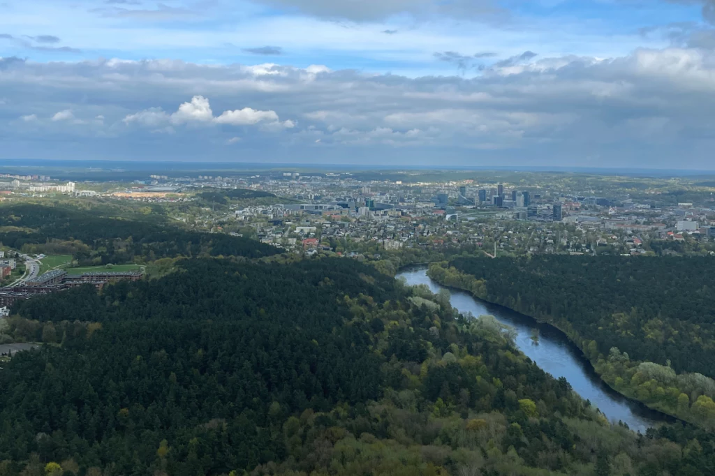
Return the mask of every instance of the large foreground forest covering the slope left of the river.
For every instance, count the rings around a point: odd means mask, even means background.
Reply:
[[[493,317],[352,259],[184,259],[12,309],[0,475],[711,475],[611,425]]]

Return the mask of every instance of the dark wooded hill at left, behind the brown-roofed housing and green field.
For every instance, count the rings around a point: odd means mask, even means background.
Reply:
[[[244,237],[187,231],[156,214],[119,217],[36,204],[14,204],[1,211],[2,244],[26,252],[72,254],[80,265],[202,255],[257,258],[280,252]]]

